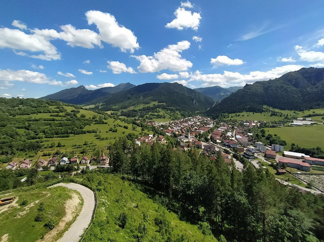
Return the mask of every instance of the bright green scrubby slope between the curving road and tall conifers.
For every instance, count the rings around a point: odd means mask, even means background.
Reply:
[[[100,173],[90,173],[83,181],[97,186],[99,200],[96,219],[84,236],[85,242],[217,241],[210,231],[202,232],[154,203],[132,182]]]

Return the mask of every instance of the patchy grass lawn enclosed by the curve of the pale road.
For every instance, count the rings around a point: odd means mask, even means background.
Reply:
[[[65,202],[72,198],[70,195],[72,191],[64,187],[17,191],[19,192],[10,194],[18,197],[16,203],[8,210],[0,212],[0,237],[8,234],[8,242],[34,242],[41,239],[50,231],[44,225],[53,218],[60,221],[65,215]],[[24,200],[27,200],[27,204],[20,206]],[[44,218],[41,222],[35,222],[40,202],[44,203]],[[61,231],[61,236],[63,233],[64,231]]]

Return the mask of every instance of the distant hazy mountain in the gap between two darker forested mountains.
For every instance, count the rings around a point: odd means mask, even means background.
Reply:
[[[220,102],[223,98],[228,97],[231,93],[235,93],[237,90],[242,89],[241,86],[223,88],[220,86],[212,87],[200,87],[193,90],[200,92],[206,96],[213,98],[216,102]]]

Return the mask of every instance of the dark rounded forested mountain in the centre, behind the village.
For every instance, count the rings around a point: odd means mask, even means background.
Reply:
[[[214,104],[213,99],[193,89],[179,83],[164,82],[145,83],[111,94],[103,101],[104,105],[100,110],[120,110],[134,105],[149,104],[152,101],[182,111],[203,111]]]

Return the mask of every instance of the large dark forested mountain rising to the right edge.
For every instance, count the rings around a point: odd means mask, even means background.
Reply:
[[[208,110],[207,114],[262,112],[263,105],[282,110],[323,107],[324,68],[302,68],[273,80],[246,84]]]

